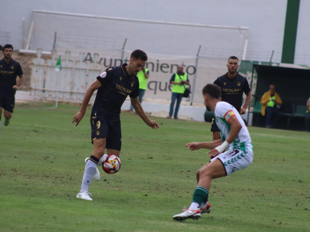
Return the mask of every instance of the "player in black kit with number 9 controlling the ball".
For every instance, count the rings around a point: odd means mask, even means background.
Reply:
[[[122,145],[120,113],[122,104],[128,95],[131,105],[140,118],[149,127],[159,128],[157,122],[150,120],[144,113],[138,99],[139,80],[136,75],[145,66],[147,59],[145,52],[137,49],[131,53],[128,64],[107,68],[87,89],[81,109],[73,117],[73,123],[76,122],[77,126],[85,114],[91,96],[97,89],[91,111],[91,140],[94,144],[94,152],[85,165],[82,186],[76,196],[79,199],[92,200],[88,188],[97,171],[96,166],[104,155],[105,148],[107,148],[108,155],[113,154],[117,157],[120,155]]]

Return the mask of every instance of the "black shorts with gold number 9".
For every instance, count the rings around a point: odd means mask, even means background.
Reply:
[[[122,147],[122,131],[121,121],[111,121],[100,116],[91,116],[91,142],[99,138],[106,138],[107,149],[121,150]]]

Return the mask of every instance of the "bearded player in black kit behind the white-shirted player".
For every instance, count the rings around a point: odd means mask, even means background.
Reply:
[[[236,108],[240,114],[246,113],[246,108],[249,106],[252,93],[249,82],[246,77],[240,75],[237,70],[239,68],[239,59],[236,56],[228,58],[228,72],[223,76],[218,77],[213,84],[218,85],[222,89],[222,101],[228,102]],[[246,94],[246,100],[242,105],[242,95]],[[213,141],[221,139],[219,128],[216,126],[215,118],[211,122],[211,131],[213,132]]]

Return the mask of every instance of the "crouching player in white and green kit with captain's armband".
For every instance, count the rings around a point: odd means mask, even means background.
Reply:
[[[214,158],[197,171],[197,187],[193,193],[193,202],[184,212],[173,216],[177,221],[199,219],[201,213],[210,213],[208,195],[211,181],[244,169],[253,161],[253,144],[249,131],[238,111],[229,103],[221,101],[221,88],[216,84],[207,84],[202,89],[202,94],[207,109],[215,114],[215,122],[222,139],[185,145],[192,151],[200,148],[211,149],[208,157]]]

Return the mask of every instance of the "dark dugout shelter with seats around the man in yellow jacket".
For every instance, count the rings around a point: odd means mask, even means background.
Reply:
[[[270,65],[253,63],[251,89],[255,72],[257,74],[256,91],[250,104],[250,112],[253,114],[252,125],[265,126],[265,117],[261,115],[260,99],[269,90],[270,84],[275,84],[276,92],[283,101],[282,106],[290,105],[292,109],[291,112],[286,112],[288,110],[281,108],[283,116],[276,128],[304,130],[306,102],[310,97],[310,67],[282,63],[270,63]]]

